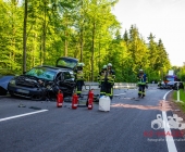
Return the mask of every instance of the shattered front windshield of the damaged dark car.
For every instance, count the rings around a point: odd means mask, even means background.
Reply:
[[[47,80],[53,80],[57,72],[47,68],[47,67],[34,67],[29,72],[27,72],[25,75],[28,76],[35,76],[37,78],[42,78]]]

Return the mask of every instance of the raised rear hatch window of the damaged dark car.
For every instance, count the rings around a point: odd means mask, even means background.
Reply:
[[[63,66],[67,68],[74,68],[76,66],[77,62],[74,60],[67,60],[67,59],[60,59],[57,63],[57,66]]]

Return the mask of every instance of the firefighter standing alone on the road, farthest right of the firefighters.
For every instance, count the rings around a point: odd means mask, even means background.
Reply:
[[[143,69],[139,69],[139,73],[137,75],[137,84],[138,84],[138,97],[144,98],[146,96],[145,88],[148,84],[147,75],[144,73]]]

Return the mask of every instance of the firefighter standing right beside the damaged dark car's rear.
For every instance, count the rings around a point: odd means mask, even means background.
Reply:
[[[76,80],[76,93],[78,97],[81,97],[82,89],[84,86],[84,73],[83,73],[83,66],[84,63],[78,63],[77,64],[77,69],[75,71],[75,80]]]

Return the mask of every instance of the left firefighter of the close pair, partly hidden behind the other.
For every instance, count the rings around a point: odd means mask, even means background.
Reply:
[[[106,96],[106,73],[107,73],[107,65],[103,65],[98,76],[98,81],[100,86],[100,97]]]

